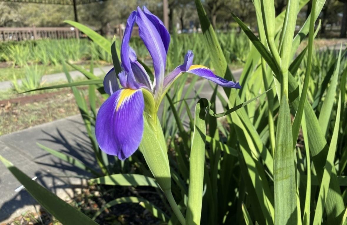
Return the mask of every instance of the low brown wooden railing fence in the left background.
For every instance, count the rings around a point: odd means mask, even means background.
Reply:
[[[79,38],[74,27],[0,27],[0,41]]]

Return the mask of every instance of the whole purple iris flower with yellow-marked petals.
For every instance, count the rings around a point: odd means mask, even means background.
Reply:
[[[137,61],[135,51],[129,46],[135,22],[139,36],[148,49],[154,67],[154,81],[150,80],[144,67]],[[163,22],[146,7],[137,7],[128,20],[121,44],[120,58],[122,72],[112,68],[104,78],[105,92],[111,96],[102,104],[96,116],[96,140],[102,151],[124,160],[139,147],[144,130],[145,101],[143,89],[153,94],[155,112],[170,85],[183,73],[192,73],[227,88],[241,88],[239,83],[227,81],[202,65],[193,64],[193,52],[188,51],[184,63],[165,76],[166,56],[170,34]],[[183,84],[182,84],[183,85]]]

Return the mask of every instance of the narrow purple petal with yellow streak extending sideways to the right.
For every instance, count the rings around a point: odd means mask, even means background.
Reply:
[[[207,80],[213,81],[214,83],[222,87],[238,88],[238,89],[241,88],[239,82],[235,83],[232,81],[228,81],[220,76],[217,76],[209,68],[202,65],[193,65],[189,67],[189,70],[187,70],[186,73],[192,73],[192,74],[201,76]]]

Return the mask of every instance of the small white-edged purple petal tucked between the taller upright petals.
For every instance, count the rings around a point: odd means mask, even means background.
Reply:
[[[146,85],[148,88],[152,89],[152,81],[150,76],[147,74],[145,68],[137,61],[135,51],[130,47],[129,52],[130,64],[133,70],[134,76],[137,82]]]

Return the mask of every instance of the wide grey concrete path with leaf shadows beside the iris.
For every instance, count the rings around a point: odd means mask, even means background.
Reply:
[[[241,72],[242,70],[233,72],[236,80],[239,80]],[[199,80],[195,83],[195,89],[199,89],[201,85],[204,87],[199,97],[209,99],[213,92],[210,84]],[[224,93],[221,88],[220,92]],[[189,97],[194,97],[194,92]],[[221,102],[216,103],[217,112],[221,112],[223,110]],[[159,110],[159,115],[161,115],[161,111],[162,108]],[[28,176],[37,176],[37,182],[62,199],[72,197],[74,191],[78,191],[85,183],[82,178],[67,176],[88,177],[90,174],[50,155],[39,148],[37,142],[72,155],[86,165],[97,168],[91,143],[80,115],[1,136],[0,155],[11,161]],[[35,211],[33,205],[37,203],[25,190],[15,192],[20,185],[9,170],[0,163],[0,222],[6,222],[25,211]]]

